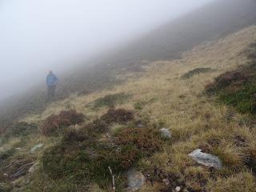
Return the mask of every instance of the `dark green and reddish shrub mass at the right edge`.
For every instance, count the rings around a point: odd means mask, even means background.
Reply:
[[[242,114],[256,114],[256,63],[218,76],[206,86],[207,94],[216,94],[219,101],[234,106]]]

